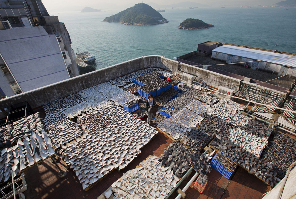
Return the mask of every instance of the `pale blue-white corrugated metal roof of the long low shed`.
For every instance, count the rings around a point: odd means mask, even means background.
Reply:
[[[293,55],[286,55],[286,54],[268,52],[268,51],[260,51],[255,49],[242,48],[242,47],[229,46],[229,45],[220,46],[212,51],[225,53],[228,55],[245,57],[253,60],[265,60],[265,62],[274,63],[278,65],[296,67],[296,56],[293,56]],[[283,57],[288,57],[288,58],[283,58]]]

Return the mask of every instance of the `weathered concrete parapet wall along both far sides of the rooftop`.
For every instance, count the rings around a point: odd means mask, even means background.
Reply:
[[[19,95],[11,96],[0,100],[0,107],[10,108],[11,105],[27,101],[32,108],[38,108],[55,99],[66,97],[85,88],[95,86],[99,83],[127,75],[134,71],[147,67],[159,67],[178,74],[183,72],[197,76],[196,80],[204,82],[218,88],[220,85],[237,91],[239,89],[240,79],[221,75],[202,68],[193,67],[178,61],[164,58],[162,56],[151,55],[139,57],[71,79],[60,81],[45,87],[32,91],[24,92]],[[251,84],[251,83],[249,83]],[[256,85],[256,84],[253,84]]]

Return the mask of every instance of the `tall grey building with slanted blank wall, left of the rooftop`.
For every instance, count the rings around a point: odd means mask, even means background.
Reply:
[[[64,23],[40,0],[0,0],[0,99],[79,75]]]

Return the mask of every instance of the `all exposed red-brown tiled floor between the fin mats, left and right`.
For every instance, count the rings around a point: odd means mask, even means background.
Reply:
[[[68,175],[66,177],[59,178],[59,170],[49,159],[47,159],[43,161],[42,164],[35,165],[27,170],[25,179],[28,186],[27,191],[25,191],[24,194],[26,198],[30,199],[96,199],[115,181],[117,181],[123,173],[136,168],[136,166],[145,160],[149,155],[160,156],[171,142],[173,142],[173,140],[159,132],[153,140],[141,149],[141,154],[139,154],[138,157],[135,158],[125,169],[112,171],[87,192],[82,189],[82,185],[72,169],[68,169]],[[66,169],[66,165],[63,161],[60,161],[58,164],[61,169]],[[194,173],[184,180],[179,188],[183,189],[193,175]],[[238,167],[233,175],[232,180],[228,180],[212,168],[211,173],[208,174],[209,180],[204,192],[200,194],[197,190],[195,190],[193,188],[193,182],[185,192],[187,196],[186,198],[257,199],[262,198],[262,194],[271,189],[270,186],[265,185],[263,181],[252,174],[249,174],[241,167]],[[169,199],[174,199],[177,195],[178,194],[174,192]]]

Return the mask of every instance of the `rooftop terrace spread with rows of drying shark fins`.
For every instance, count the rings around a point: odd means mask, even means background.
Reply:
[[[147,65],[158,68],[145,68]],[[241,114],[244,106],[217,99],[204,87],[189,85],[170,87],[166,91],[153,84],[148,87],[146,94],[154,92],[159,105],[154,124],[149,126],[142,118],[145,99],[133,94],[135,88],[144,96],[145,92],[131,82],[140,75],[160,72],[170,77],[174,86],[180,78],[171,73],[178,72],[175,67],[190,70],[173,60],[143,57],[1,100],[2,107],[9,107],[11,103],[27,99],[35,112],[40,112],[52,146],[55,152],[60,152],[62,160],[58,165],[69,172],[59,178],[55,164],[46,158],[36,161],[35,156],[34,166],[26,163],[28,167],[24,169],[28,184],[26,197],[97,198],[111,186],[114,198],[165,198],[193,166],[195,171],[208,176],[208,184],[204,193],[199,194],[192,183],[185,192],[187,198],[261,198],[271,189],[270,185],[277,183],[276,177],[283,177],[287,166],[296,160],[295,154],[286,153],[287,148],[295,148],[295,138],[275,133]],[[136,70],[141,68],[145,69]],[[207,73],[207,77],[211,75],[211,81],[225,81],[234,88],[240,82]],[[152,76],[151,82],[155,78],[159,77]],[[135,106],[134,100],[141,110],[130,114],[123,107]],[[23,124],[27,123],[32,124],[29,120]],[[23,133],[26,136],[25,129]],[[11,134],[16,135],[14,131]],[[268,149],[265,148],[267,142]],[[285,147],[278,148],[279,142],[286,143]],[[229,179],[210,166],[210,161],[215,159],[213,155],[204,157],[203,163],[192,164],[192,157],[200,157],[199,152],[204,152],[207,146],[223,151],[240,165]],[[275,151],[285,152],[286,158],[273,156]],[[277,164],[278,161],[282,164]],[[201,169],[204,167],[211,168],[211,172]],[[195,171],[181,183],[181,189]],[[158,176],[160,178],[156,178]],[[175,196],[173,192],[170,198]]]

